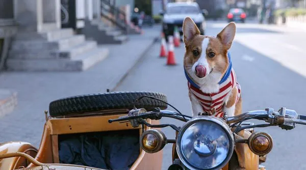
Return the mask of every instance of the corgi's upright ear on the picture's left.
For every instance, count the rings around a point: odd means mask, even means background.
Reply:
[[[183,22],[184,43],[186,44],[194,36],[199,35],[200,31],[190,17],[186,17]]]

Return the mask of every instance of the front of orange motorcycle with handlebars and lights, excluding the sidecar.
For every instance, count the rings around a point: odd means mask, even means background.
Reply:
[[[253,128],[279,126],[291,130],[296,124],[306,125],[306,116],[298,115],[296,111],[285,107],[281,107],[278,111],[274,111],[273,108],[254,110],[234,117],[227,117],[225,114],[223,118],[209,114],[199,114],[192,118],[173,108],[176,111],[159,108],[146,111],[144,108],[134,108],[127,116],[110,119],[109,123],[129,121],[133,127],[169,126],[175,130],[175,139],[168,139],[161,130],[157,129],[143,131],[140,136],[141,148],[147,153],[157,153],[166,144],[173,144],[173,164],[168,170],[265,169],[259,165],[260,156],[266,156],[272,150],[273,140],[268,133],[254,132]],[[182,127],[177,127],[173,124],[152,125],[146,121],[160,120],[163,117],[186,123]],[[250,119],[261,120],[266,124],[254,125],[244,122]],[[239,135],[241,131],[244,131],[244,136]],[[244,150],[242,155],[239,155],[239,149]]]

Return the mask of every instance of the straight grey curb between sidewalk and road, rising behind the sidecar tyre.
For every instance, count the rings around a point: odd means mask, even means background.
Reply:
[[[117,87],[121,84],[121,82],[126,78],[127,75],[132,71],[132,69],[141,61],[141,59],[144,58],[145,54],[152,48],[152,45],[158,42],[159,36],[156,36],[151,43],[148,44],[148,46],[141,52],[138,59],[135,60],[134,64],[131,65],[129,69],[126,70],[126,72],[119,78],[117,82],[115,82],[115,86],[110,89],[110,91],[116,91]]]

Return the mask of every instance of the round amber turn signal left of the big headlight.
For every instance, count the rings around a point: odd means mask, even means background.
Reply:
[[[156,153],[166,145],[165,134],[157,129],[149,129],[140,136],[140,146],[147,153]]]

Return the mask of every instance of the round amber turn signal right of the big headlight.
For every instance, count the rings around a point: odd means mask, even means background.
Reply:
[[[273,147],[272,137],[265,132],[255,132],[248,138],[250,150],[259,156],[268,154]]]

